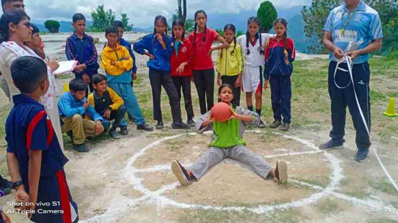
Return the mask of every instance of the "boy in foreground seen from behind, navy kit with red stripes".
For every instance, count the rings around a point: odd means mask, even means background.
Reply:
[[[40,58],[23,56],[12,63],[11,75],[21,92],[13,97],[15,105],[5,124],[7,165],[16,201],[23,203],[21,209],[32,222],[76,223],[78,209],[64,172],[68,159],[39,103],[49,86],[47,66]]]

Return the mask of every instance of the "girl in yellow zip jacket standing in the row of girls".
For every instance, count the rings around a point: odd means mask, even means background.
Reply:
[[[229,84],[233,87],[234,107],[240,106],[240,83],[244,69],[245,56],[240,44],[236,42],[236,28],[233,24],[224,26],[224,39],[229,43],[227,49],[222,49],[217,56],[217,85]]]

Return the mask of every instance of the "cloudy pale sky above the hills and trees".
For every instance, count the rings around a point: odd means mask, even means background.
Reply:
[[[43,22],[47,19],[72,20],[76,12],[83,13],[91,20],[91,12],[99,4],[105,9],[127,13],[134,26],[150,26],[156,15],[167,18],[177,8],[177,0],[25,0],[26,11],[33,21]],[[207,13],[239,13],[243,10],[257,9],[262,0],[187,0],[189,17],[198,9]],[[271,0],[277,7],[293,7],[309,4],[311,0]]]

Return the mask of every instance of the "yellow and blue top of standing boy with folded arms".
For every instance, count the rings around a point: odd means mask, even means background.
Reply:
[[[130,83],[131,69],[133,68],[133,59],[124,60],[126,56],[130,56],[128,50],[116,44],[116,50],[106,47],[102,51],[102,67],[105,70],[108,83]],[[115,61],[115,65],[111,65],[111,61]]]

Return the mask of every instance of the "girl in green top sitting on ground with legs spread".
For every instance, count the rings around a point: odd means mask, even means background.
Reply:
[[[218,89],[218,99],[230,106],[232,115],[227,121],[217,122],[208,111],[197,122],[198,133],[212,130],[213,138],[210,148],[189,168],[184,168],[180,162],[172,162],[172,170],[182,185],[189,185],[192,181],[199,180],[204,173],[226,158],[234,159],[248,165],[262,178],[269,180],[277,178],[279,182],[288,180],[288,167],[284,161],[277,161],[275,168],[271,167],[259,155],[253,154],[246,148],[246,142],[242,136],[246,126],[258,124],[260,116],[243,107],[232,107],[233,88],[229,84],[223,84]]]

